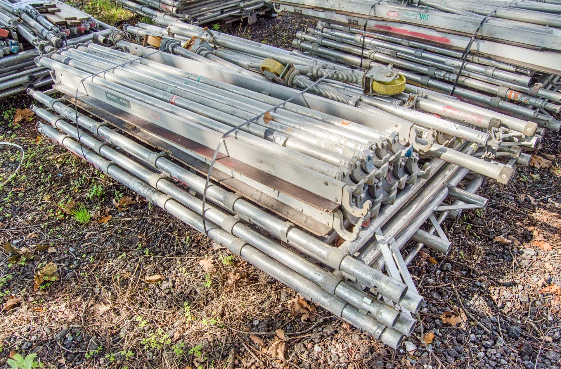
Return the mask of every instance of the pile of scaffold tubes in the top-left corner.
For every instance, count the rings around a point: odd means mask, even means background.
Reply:
[[[57,0],[0,0],[0,99],[52,84],[33,58],[109,35],[109,26]]]

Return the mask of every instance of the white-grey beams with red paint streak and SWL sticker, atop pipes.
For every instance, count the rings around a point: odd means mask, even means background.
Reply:
[[[482,57],[482,65],[500,68],[488,64],[490,59],[498,60],[516,65],[514,71],[519,74],[532,71],[559,74],[559,2],[270,1],[276,11],[311,17],[324,22],[322,26],[327,28],[335,24],[349,26],[346,32],[356,35],[362,34],[366,25],[369,33],[374,32],[373,38],[398,43],[403,39],[403,45],[419,49],[419,53],[425,50],[459,58],[469,44],[472,54],[467,61],[477,63],[477,58]],[[470,44],[473,35],[475,39]]]

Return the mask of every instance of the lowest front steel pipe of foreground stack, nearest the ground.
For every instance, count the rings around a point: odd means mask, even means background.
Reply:
[[[140,181],[125,170],[122,170],[114,163],[104,160],[97,154],[91,152],[89,149],[81,147],[79,143],[68,138],[68,136],[64,134],[59,133],[53,127],[39,122],[38,130],[40,133],[52,138],[57,143],[61,144],[63,147],[78,156],[81,156],[80,154],[83,152],[85,154],[85,160],[93,163],[94,166],[100,168],[103,172],[105,172],[105,174],[113,177],[131,190],[139,193],[151,203],[157,204],[165,211],[171,213],[171,215],[179,218],[185,224],[194,227],[196,230],[203,231],[202,218],[195,212],[185,206],[182,206],[177,201],[174,201],[168,195],[160,193],[158,190],[155,190],[148,184]],[[290,268],[275,262],[272,258],[266,256],[265,253],[260,252],[251,245],[243,242],[239,238],[236,238],[236,236],[229,234],[218,225],[213,224],[212,222],[207,222],[207,225],[209,226],[208,236],[214,242],[228,248],[233,253],[236,253],[243,259],[246,259],[246,261],[273,276],[283,284],[295,289],[298,293],[310,299],[312,302],[319,304],[321,307],[332,312],[334,315],[341,317],[343,320],[346,320],[351,324],[366,330],[367,332],[370,332],[376,339],[379,339],[394,348],[397,348],[401,344],[402,335],[398,331],[385,327],[370,315],[362,315],[356,307],[344,302],[332,294],[329,294],[327,291],[321,289],[320,286],[305,279],[301,275],[298,275]]]

